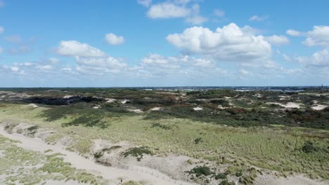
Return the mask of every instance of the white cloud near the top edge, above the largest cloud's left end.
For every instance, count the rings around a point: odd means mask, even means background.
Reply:
[[[173,4],[171,2],[164,2],[155,4],[150,7],[146,15],[148,18],[185,18],[190,15],[191,10],[185,6]]]

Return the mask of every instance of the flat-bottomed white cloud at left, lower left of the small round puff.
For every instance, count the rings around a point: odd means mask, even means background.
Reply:
[[[98,48],[93,48],[86,43],[78,41],[60,41],[57,53],[63,56],[101,57],[105,56]]]

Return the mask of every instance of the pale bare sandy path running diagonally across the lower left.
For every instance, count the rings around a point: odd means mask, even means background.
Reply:
[[[0,125],[0,135],[8,137],[9,139],[18,140],[21,143],[17,143],[17,146],[23,149],[28,149],[32,151],[39,151],[44,153],[44,151],[51,149],[56,153],[63,153],[64,160],[72,164],[73,167],[78,169],[87,170],[97,175],[101,175],[104,179],[115,180],[118,179],[129,179],[134,181],[148,181],[150,184],[191,184],[184,181],[175,181],[157,170],[153,170],[146,167],[130,167],[129,170],[119,169],[115,167],[106,167],[99,165],[92,160],[79,156],[77,153],[72,151],[66,151],[60,146],[53,146],[46,144],[39,138],[25,137],[24,135],[19,135],[16,133],[9,134],[4,130],[3,125]]]

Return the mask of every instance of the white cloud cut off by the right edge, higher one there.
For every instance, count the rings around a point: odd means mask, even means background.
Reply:
[[[306,46],[329,46],[329,26],[314,26],[307,32]]]

